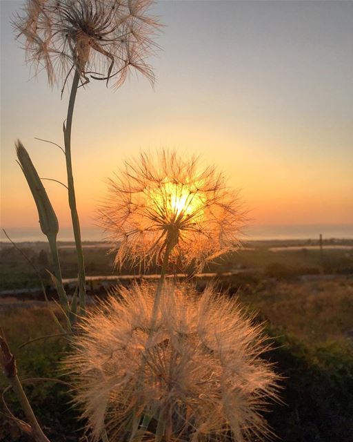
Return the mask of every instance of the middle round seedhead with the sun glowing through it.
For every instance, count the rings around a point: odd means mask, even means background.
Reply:
[[[243,212],[213,167],[195,157],[142,153],[108,181],[99,224],[117,251],[115,263],[145,267],[166,253],[174,270],[205,262],[239,247]]]

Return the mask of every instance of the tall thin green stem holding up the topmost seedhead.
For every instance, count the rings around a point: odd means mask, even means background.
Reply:
[[[81,313],[85,311],[85,265],[83,260],[83,249],[81,242],[81,229],[79,223],[79,215],[77,213],[76,196],[74,193],[74,177],[72,175],[72,160],[71,160],[71,128],[72,117],[74,113],[74,102],[77,95],[77,88],[79,86],[80,75],[76,70],[74,79],[72,81],[70,99],[68,104],[68,117],[66,119],[66,126],[64,126],[64,142],[65,142],[65,157],[66,170],[68,173],[68,197],[71,210],[72,227],[74,230],[74,242],[76,244],[77,252],[77,267],[79,273],[79,304]]]

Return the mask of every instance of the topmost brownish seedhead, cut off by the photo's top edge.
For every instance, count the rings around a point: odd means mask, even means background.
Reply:
[[[13,21],[25,39],[27,61],[44,69],[50,85],[77,70],[120,86],[134,68],[153,81],[146,57],[157,21],[147,13],[152,0],[27,0]]]

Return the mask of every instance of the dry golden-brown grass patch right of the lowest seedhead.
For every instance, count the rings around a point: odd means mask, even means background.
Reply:
[[[252,296],[252,304],[272,325],[308,342],[346,340],[353,334],[350,278],[277,283]]]

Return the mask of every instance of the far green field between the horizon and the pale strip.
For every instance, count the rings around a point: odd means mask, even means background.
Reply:
[[[330,249],[332,245],[343,245],[350,249]],[[210,265],[205,271],[234,271],[254,269],[268,278],[288,280],[303,274],[353,274],[353,240],[326,240],[323,255],[319,249],[310,249],[315,242],[308,241],[253,241],[245,244],[245,248],[237,253],[230,253],[223,259]],[[99,244],[101,246],[101,244]],[[296,246],[299,249],[273,251],[273,247]],[[39,269],[46,284],[50,277],[46,269],[51,269],[48,244],[33,242],[19,244],[32,263]],[[326,248],[325,248],[326,247]],[[113,268],[113,256],[105,247],[97,244],[85,244],[85,267],[88,276],[117,274]],[[63,278],[77,276],[75,251],[70,243],[59,244],[59,254]],[[150,269],[155,273],[156,269]],[[133,273],[131,269],[123,269],[122,273]],[[9,244],[0,244],[0,291],[39,287],[39,280],[25,258]]]

